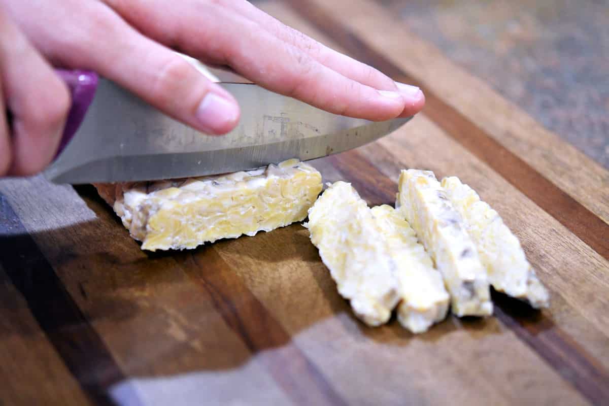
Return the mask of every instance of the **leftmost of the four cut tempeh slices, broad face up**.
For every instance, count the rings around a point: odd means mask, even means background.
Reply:
[[[400,301],[396,265],[382,229],[351,184],[329,186],[309,209],[305,226],[356,316],[369,326],[386,323]]]

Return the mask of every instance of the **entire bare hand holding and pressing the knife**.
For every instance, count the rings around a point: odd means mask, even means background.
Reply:
[[[230,131],[234,97],[172,50],[345,116],[410,116],[425,102],[245,0],[0,0],[0,109],[12,116],[0,114],[0,177],[38,173],[57,150],[71,100],[53,66],[96,71],[205,133]]]

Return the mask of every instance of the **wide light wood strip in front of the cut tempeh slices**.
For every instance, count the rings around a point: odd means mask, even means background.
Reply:
[[[336,295],[315,248],[306,243],[306,229],[290,226],[273,234],[215,247],[348,403],[515,404],[541,401],[546,385],[560,388],[555,402],[583,402],[497,320],[449,319],[420,337],[395,320],[379,329],[364,327]],[[475,366],[468,360],[476,360]]]

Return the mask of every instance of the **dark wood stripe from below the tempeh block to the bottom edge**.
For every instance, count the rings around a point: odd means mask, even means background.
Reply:
[[[297,405],[347,405],[289,333],[253,295],[244,281],[214,247],[180,253],[176,257],[192,280],[214,301],[214,306],[259,360],[284,393]]]

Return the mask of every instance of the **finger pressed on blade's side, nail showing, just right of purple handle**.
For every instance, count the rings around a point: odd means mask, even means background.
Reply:
[[[133,29],[102,2],[65,2],[71,15],[79,16],[70,24],[52,2],[41,4],[40,13],[52,30],[37,31],[35,36],[52,60],[96,71],[205,133],[227,133],[237,124],[239,106],[234,97],[185,58]],[[172,7],[164,2],[161,9],[171,13]]]

